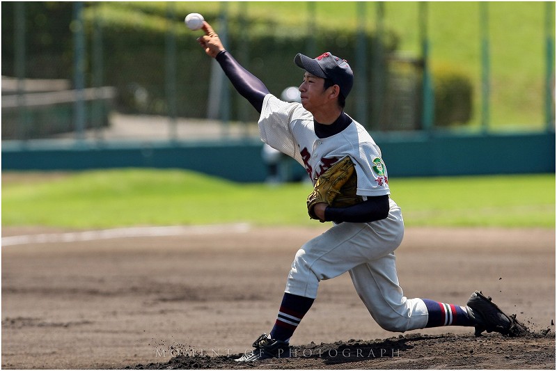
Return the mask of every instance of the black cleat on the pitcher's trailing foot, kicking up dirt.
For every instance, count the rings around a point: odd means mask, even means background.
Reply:
[[[485,297],[481,291],[471,294],[466,303],[469,315],[476,320],[475,336],[481,336],[483,331],[493,331],[508,336],[524,335],[528,331],[524,324],[517,321],[516,315],[508,316],[492,302],[491,297]]]

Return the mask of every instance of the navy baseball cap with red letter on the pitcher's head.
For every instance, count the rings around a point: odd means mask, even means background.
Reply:
[[[347,97],[354,84],[354,73],[347,61],[326,52],[317,58],[310,58],[298,53],[294,58],[294,63],[299,68],[323,79],[329,79],[340,87],[340,93]]]

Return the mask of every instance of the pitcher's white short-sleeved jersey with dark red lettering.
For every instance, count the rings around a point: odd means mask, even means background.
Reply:
[[[301,103],[283,102],[267,94],[258,127],[261,140],[298,161],[314,183],[336,161],[350,156],[356,169],[358,196],[391,194],[381,150],[355,120],[342,132],[319,138],[313,115]]]

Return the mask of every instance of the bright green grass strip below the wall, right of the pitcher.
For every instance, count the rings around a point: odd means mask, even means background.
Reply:
[[[554,175],[401,179],[390,187],[407,225],[555,227]]]

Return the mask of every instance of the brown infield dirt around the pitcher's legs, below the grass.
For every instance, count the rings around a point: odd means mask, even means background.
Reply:
[[[2,246],[5,369],[555,369],[555,230],[408,228],[407,297],[482,290],[528,336],[382,330],[347,274],[322,281],[294,358],[238,364],[269,332],[297,248],[327,226]],[[67,232],[3,228],[2,236]]]

